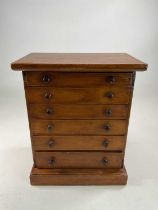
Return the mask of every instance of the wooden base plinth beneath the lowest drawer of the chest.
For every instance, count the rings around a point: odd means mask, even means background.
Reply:
[[[38,169],[30,174],[32,185],[125,185],[127,172],[122,169]]]

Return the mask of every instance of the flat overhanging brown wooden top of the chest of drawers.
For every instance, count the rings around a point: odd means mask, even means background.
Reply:
[[[30,53],[13,70],[67,72],[145,71],[147,64],[126,53]]]

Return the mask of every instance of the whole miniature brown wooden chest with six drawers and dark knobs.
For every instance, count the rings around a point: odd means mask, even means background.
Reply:
[[[135,72],[147,64],[125,53],[31,53],[11,67],[23,73],[31,184],[126,184]]]

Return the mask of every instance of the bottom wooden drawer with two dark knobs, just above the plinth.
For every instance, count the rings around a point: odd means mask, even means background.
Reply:
[[[121,168],[123,153],[35,152],[37,168]]]

